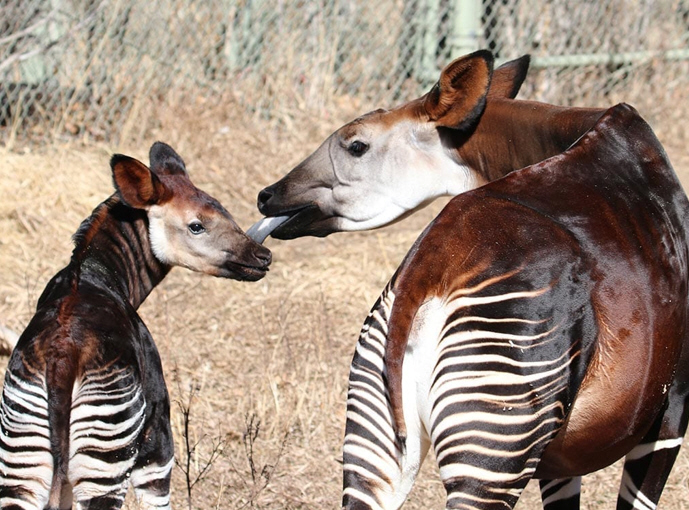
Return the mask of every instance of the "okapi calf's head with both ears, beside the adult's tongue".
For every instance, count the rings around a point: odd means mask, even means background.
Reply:
[[[153,144],[150,164],[121,154],[110,161],[122,201],[147,212],[151,247],[161,262],[235,280],[265,276],[270,250],[247,237],[216,199],[192,184],[172,147]]]

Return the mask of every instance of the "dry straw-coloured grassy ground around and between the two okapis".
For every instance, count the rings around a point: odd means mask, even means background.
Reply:
[[[48,279],[68,262],[72,234],[112,192],[113,152],[146,161],[153,141],[170,143],[195,183],[248,228],[259,217],[256,193],[354,113],[267,123],[231,104],[206,109],[199,102],[161,111],[160,127],[136,147],[0,149],[0,324],[21,331]],[[689,151],[666,143],[689,189]],[[374,232],[269,239],[274,263],[256,283],[175,269],[153,291],[140,314],[156,339],[173,401],[182,465],[174,469],[174,507],[187,506],[193,485],[195,509],[339,508],[347,373],[359,328],[442,205]],[[1,356],[0,376],[6,362]],[[190,397],[186,448],[182,409]],[[586,477],[582,508],[614,508],[619,478],[620,466]],[[535,487],[519,509],[540,508]],[[443,508],[443,493],[429,458],[405,508]],[[687,501],[685,448],[660,507],[680,510]]]

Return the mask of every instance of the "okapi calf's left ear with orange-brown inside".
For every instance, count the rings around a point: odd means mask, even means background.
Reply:
[[[165,186],[141,161],[115,154],[110,167],[115,189],[125,204],[135,209],[148,209],[160,201]]]

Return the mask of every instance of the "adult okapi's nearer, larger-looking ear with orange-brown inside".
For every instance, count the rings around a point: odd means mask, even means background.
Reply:
[[[458,58],[440,73],[423,100],[429,120],[437,126],[467,129],[483,113],[493,72],[493,54],[480,50]]]

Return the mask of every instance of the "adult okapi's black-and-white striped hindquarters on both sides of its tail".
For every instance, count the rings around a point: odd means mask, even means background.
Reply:
[[[404,359],[407,439],[396,439],[384,353],[395,285],[362,329],[352,362],[344,443],[346,508],[399,508],[432,445],[451,508],[511,508],[561,426],[578,342],[559,319],[534,319],[548,287],[503,292],[519,274],[426,301]],[[567,345],[567,348],[557,347]]]

